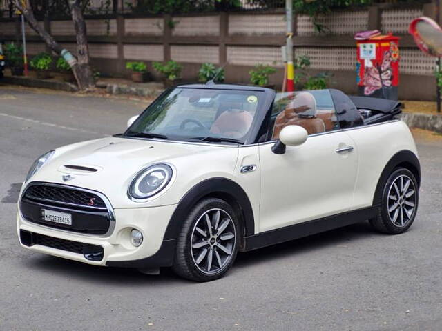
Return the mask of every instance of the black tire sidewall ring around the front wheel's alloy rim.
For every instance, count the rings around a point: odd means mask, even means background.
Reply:
[[[214,274],[206,274],[205,272],[202,272],[202,270],[200,270],[195,265],[195,262],[193,261],[192,250],[191,250],[192,232],[193,232],[193,228],[195,226],[195,223],[197,223],[197,221],[200,219],[200,217],[208,210],[215,209],[215,208],[224,210],[225,212],[227,212],[227,214],[229,214],[229,216],[231,217],[231,220],[233,222],[233,225],[235,227],[236,238],[235,238],[235,243],[234,243],[234,247],[232,250],[232,256],[231,256],[231,260],[229,261],[229,264],[226,267],[224,267],[222,270],[219,270],[218,272],[216,272]],[[201,201],[200,203],[195,205],[195,207],[191,210],[191,212],[189,214],[189,217],[186,221],[186,225],[187,226],[185,229],[186,230],[186,241],[184,243],[184,259],[186,259],[186,264],[188,265],[189,271],[193,274],[195,279],[198,279],[200,281],[211,281],[211,280],[219,279],[227,271],[229,271],[229,269],[231,268],[231,266],[233,265],[233,263],[236,259],[236,255],[238,253],[238,247],[240,245],[240,235],[241,235],[239,221],[238,221],[238,215],[236,214],[236,212],[233,210],[233,208],[231,208],[231,206],[227,202],[225,202],[221,199],[211,198],[211,199],[206,199],[204,201]]]

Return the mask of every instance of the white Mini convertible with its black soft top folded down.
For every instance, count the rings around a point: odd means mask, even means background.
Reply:
[[[421,182],[395,101],[237,85],[166,90],[123,134],[51,150],[20,192],[24,248],[186,279],[238,252],[369,220],[414,221]]]

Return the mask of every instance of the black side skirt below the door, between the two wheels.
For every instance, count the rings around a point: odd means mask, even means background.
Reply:
[[[343,212],[333,216],[323,217],[304,223],[285,226],[284,228],[269,230],[266,232],[253,234],[244,238],[244,248],[242,252],[256,250],[276,243],[283,243],[294,239],[310,236],[343,226],[351,225],[376,216],[376,208],[374,205],[368,208],[352,210],[351,212]]]

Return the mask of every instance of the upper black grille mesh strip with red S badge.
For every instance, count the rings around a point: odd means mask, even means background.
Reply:
[[[58,186],[32,185],[26,190],[24,196],[28,199],[46,199],[59,203],[83,205],[85,207],[89,207],[90,204],[88,203],[90,203],[91,199],[95,199],[93,200],[94,207],[106,208],[106,204],[97,194],[70,188],[60,188]]]

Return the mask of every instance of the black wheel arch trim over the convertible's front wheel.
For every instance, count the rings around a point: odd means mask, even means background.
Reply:
[[[253,217],[253,208],[246,192],[238,183],[231,179],[215,177],[198,183],[184,194],[167,225],[164,240],[176,239],[178,237],[183,219],[187,217],[191,208],[198,201],[206,197],[217,197],[229,203],[238,212],[238,216],[241,217],[244,228],[243,237],[254,234],[255,219]]]

